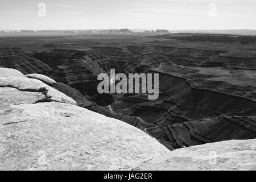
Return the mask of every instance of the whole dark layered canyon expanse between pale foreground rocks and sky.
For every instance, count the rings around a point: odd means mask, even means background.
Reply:
[[[255,36],[146,33],[0,37],[0,67],[39,73],[86,109],[169,150],[256,138]],[[100,73],[159,73],[159,97],[98,94]]]

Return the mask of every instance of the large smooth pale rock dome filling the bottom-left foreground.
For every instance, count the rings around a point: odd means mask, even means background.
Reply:
[[[169,152],[136,127],[82,107],[0,105],[1,170],[118,170]]]

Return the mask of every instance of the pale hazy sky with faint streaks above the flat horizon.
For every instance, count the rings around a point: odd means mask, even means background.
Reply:
[[[255,22],[256,0],[0,0],[0,30],[256,29]]]

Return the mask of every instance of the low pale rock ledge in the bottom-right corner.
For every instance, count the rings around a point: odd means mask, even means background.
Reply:
[[[256,170],[256,139],[227,140],[180,148],[133,170]]]

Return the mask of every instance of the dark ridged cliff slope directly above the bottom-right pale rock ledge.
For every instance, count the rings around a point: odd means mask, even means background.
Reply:
[[[256,138],[255,116],[222,116],[165,125],[146,130],[168,148],[188,147],[232,139]]]

